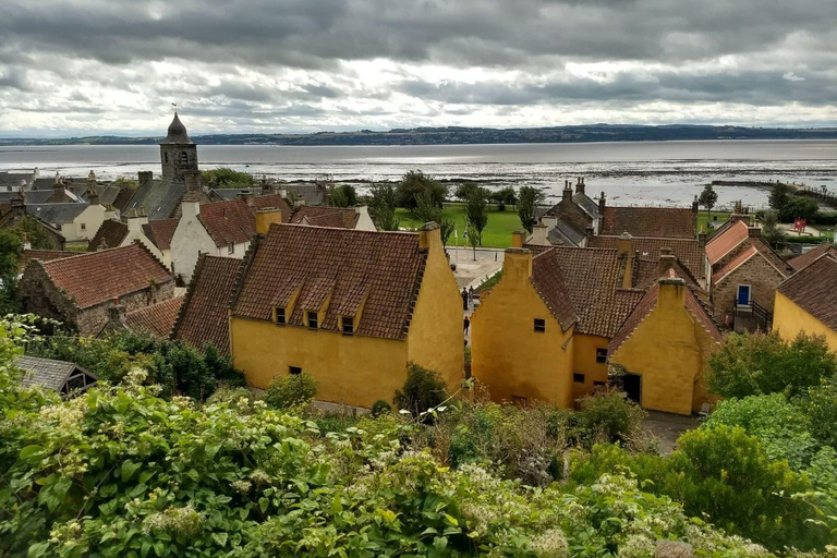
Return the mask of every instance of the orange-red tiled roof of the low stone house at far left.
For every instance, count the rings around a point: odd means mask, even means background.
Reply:
[[[52,282],[80,308],[87,308],[146,289],[172,277],[142,244],[88,252],[43,264]]]

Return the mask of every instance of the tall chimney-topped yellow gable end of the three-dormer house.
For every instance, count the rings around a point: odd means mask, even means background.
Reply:
[[[427,239],[427,262],[407,337],[408,360],[437,371],[448,386],[448,392],[453,393],[464,379],[462,298],[445,255],[439,230],[420,234]]]

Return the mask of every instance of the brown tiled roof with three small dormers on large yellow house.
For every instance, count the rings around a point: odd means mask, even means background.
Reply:
[[[270,320],[272,308],[299,291],[291,326],[306,325],[305,312],[319,311],[330,295],[320,329],[337,331],[338,317],[364,304],[356,335],[404,339],[427,252],[416,233],[274,223],[250,257],[234,316]]]

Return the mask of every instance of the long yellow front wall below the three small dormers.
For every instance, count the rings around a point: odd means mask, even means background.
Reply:
[[[405,341],[240,317],[230,320],[230,340],[235,366],[262,389],[300,366],[316,378],[317,399],[368,408],[378,399],[392,401],[407,379]]]

